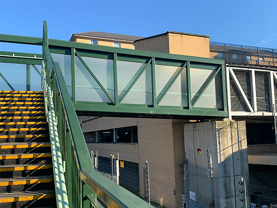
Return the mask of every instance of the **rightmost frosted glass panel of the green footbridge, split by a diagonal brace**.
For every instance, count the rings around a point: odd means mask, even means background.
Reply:
[[[210,79],[215,70],[203,70],[200,68],[190,68],[191,97],[194,100],[198,96],[198,90],[207,79]],[[215,77],[211,84],[206,88],[194,107],[202,108],[222,108],[221,97],[221,73]]]

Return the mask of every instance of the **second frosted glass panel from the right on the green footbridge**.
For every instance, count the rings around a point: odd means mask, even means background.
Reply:
[[[155,65],[157,101],[163,95],[171,81],[178,74],[181,67],[168,65]],[[187,87],[185,69],[176,79],[159,105],[187,106]]]

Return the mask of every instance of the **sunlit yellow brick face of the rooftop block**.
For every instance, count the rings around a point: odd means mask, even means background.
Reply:
[[[169,33],[169,53],[209,58],[209,38]]]

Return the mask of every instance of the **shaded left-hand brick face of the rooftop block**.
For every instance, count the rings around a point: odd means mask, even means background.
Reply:
[[[136,50],[169,53],[168,34],[134,42]]]

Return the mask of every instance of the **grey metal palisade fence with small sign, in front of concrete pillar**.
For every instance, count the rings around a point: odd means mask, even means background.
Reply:
[[[214,207],[213,177],[210,168],[184,164],[182,194],[187,207]]]

